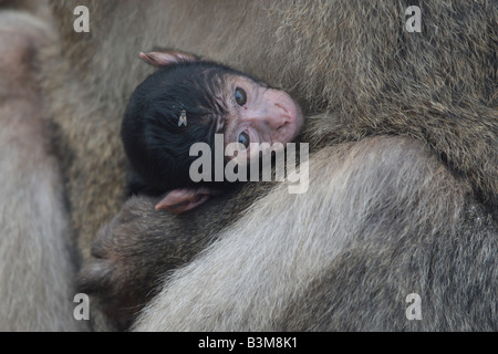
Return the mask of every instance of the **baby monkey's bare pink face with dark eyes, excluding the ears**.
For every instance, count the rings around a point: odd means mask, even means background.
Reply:
[[[271,146],[281,143],[284,147],[295,138],[303,125],[303,116],[287,92],[239,75],[230,75],[226,83],[222,100],[228,113],[217,129],[225,134],[225,146],[240,143],[247,157],[253,159],[258,158],[259,149],[251,149],[251,144],[268,143]],[[273,145],[273,150],[277,146]]]

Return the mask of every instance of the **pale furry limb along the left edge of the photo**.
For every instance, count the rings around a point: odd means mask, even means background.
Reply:
[[[60,166],[37,82],[50,28],[0,12],[0,331],[81,331]]]

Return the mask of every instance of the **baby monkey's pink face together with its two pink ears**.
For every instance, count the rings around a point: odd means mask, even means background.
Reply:
[[[141,58],[157,67],[206,61],[177,50],[141,53]],[[295,138],[303,125],[301,108],[288,93],[270,88],[231,70],[227,70],[221,80],[221,92],[217,92],[212,98],[225,108],[224,116],[216,116],[219,112],[212,112],[212,118],[217,119],[216,132],[224,134],[225,153],[229,144],[238,143],[239,148],[235,149],[237,153],[234,154],[236,157],[227,157],[236,164],[259,160],[259,154],[267,153],[268,149],[278,152],[286,148],[286,144]],[[186,114],[188,116],[188,113]],[[156,205],[156,210],[166,209],[183,214],[219,192],[209,187],[177,188]]]

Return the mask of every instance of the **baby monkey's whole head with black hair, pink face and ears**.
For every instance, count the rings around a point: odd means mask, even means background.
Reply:
[[[288,93],[237,70],[176,50],[141,58],[158,70],[132,94],[122,139],[135,187],[148,195],[168,191],[157,210],[181,214],[228,188],[228,183],[191,180],[190,165],[198,158],[189,155],[193,144],[206,143],[215,152],[215,134],[222,134],[224,147],[241,144],[250,163],[260,156],[252,143],[284,145],[302,127],[301,108]]]

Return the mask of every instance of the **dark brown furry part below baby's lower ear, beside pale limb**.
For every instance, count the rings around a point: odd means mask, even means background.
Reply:
[[[256,185],[245,187],[174,219],[154,211],[157,198],[131,198],[98,231],[93,259],[79,274],[80,291],[98,299],[115,329],[128,329],[165,274],[190,261],[247,209]]]

